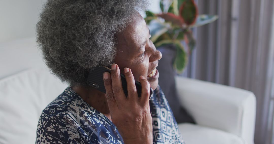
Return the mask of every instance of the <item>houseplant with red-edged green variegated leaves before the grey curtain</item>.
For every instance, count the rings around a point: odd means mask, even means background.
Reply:
[[[160,14],[146,11],[145,21],[150,28],[151,41],[156,48],[170,44],[176,47],[177,54],[173,66],[180,73],[187,64],[188,54],[195,47],[191,29],[214,22],[218,16],[198,15],[194,0],[161,0],[160,8]],[[185,52],[183,41],[188,45],[188,52]]]

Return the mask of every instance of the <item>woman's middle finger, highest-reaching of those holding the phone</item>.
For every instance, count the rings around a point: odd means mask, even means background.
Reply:
[[[112,81],[112,92],[115,96],[115,99],[117,103],[124,103],[126,100],[123,88],[122,88],[122,82],[121,82],[121,76],[120,76],[120,69],[118,65],[112,64],[111,65],[111,81]]]

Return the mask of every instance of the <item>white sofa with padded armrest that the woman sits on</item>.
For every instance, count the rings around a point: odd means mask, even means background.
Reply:
[[[181,104],[197,124],[179,124],[187,144],[253,144],[252,92],[176,77]],[[35,38],[0,44],[0,143],[35,142],[41,111],[67,85],[45,67]]]

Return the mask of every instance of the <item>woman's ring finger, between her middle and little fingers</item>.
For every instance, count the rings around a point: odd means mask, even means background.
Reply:
[[[127,99],[138,99],[134,76],[129,68],[124,68],[125,80],[127,81]]]

